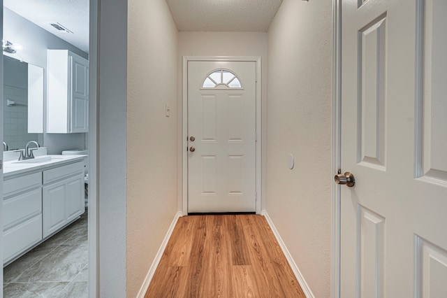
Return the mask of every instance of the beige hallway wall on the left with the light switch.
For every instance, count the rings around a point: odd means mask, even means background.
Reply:
[[[128,6],[126,294],[135,297],[177,213],[177,28],[164,0]]]

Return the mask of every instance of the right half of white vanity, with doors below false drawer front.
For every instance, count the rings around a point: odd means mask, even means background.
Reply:
[[[43,238],[85,212],[84,163],[43,171]]]

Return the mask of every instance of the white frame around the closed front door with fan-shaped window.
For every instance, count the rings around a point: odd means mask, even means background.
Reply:
[[[182,169],[182,194],[179,210],[183,215],[188,215],[188,62],[255,62],[256,63],[256,214],[261,214],[262,195],[262,177],[261,177],[261,57],[247,57],[247,56],[183,56],[182,57],[182,139],[180,140],[180,148],[182,151],[182,158],[180,160],[179,168]]]

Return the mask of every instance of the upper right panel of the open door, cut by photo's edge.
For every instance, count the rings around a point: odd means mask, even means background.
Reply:
[[[421,7],[422,9],[423,7]],[[423,84],[423,171],[419,176],[426,176],[447,185],[447,1],[425,1],[423,22],[418,24],[425,38],[422,57],[424,69]],[[420,12],[421,15],[423,13]],[[436,26],[434,26],[436,24]]]

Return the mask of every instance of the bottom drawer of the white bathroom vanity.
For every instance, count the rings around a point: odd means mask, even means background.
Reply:
[[[3,232],[3,264],[41,240],[41,214]]]

